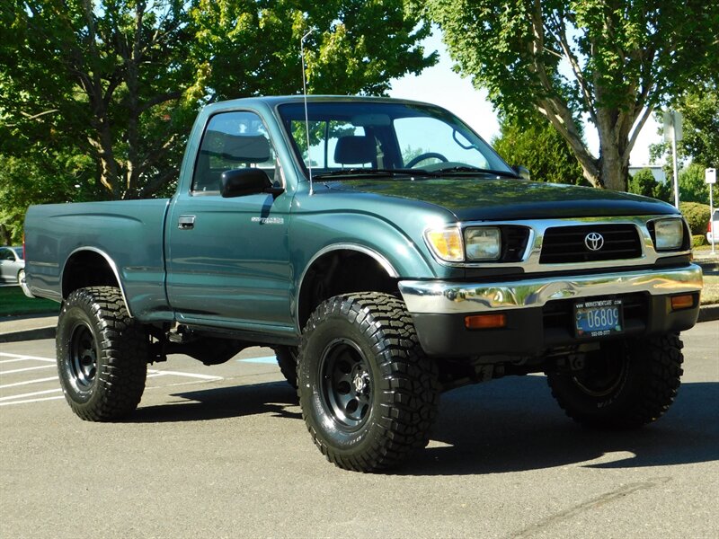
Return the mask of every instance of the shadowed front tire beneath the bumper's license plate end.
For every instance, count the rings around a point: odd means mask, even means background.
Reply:
[[[590,427],[635,429],[669,410],[683,374],[677,334],[610,341],[581,373],[549,373],[547,382],[573,420]]]

